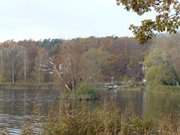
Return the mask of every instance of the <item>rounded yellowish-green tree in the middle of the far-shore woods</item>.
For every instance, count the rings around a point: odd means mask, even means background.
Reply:
[[[102,82],[105,74],[103,69],[109,64],[111,54],[103,48],[90,48],[81,58],[81,76],[84,81]]]

